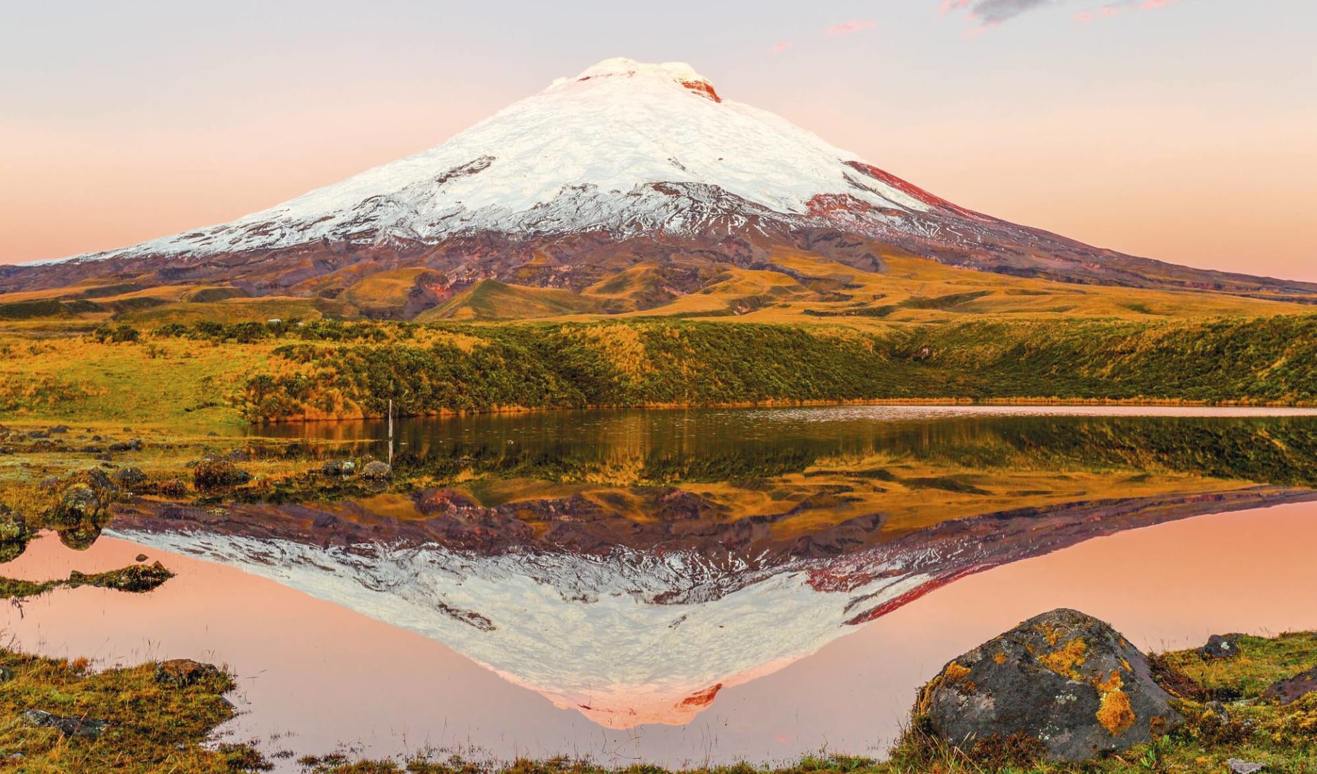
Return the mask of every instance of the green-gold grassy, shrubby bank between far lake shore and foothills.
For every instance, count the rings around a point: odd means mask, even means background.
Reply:
[[[540,408],[1317,404],[1317,316],[753,324],[290,320],[0,333],[0,419],[248,423]]]

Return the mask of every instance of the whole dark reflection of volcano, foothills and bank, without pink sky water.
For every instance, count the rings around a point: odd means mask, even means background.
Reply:
[[[379,428],[308,429],[378,450]],[[690,723],[965,575],[1317,496],[1309,416],[541,413],[412,421],[400,441],[410,491],[138,499],[107,532],[421,633],[630,728]]]

